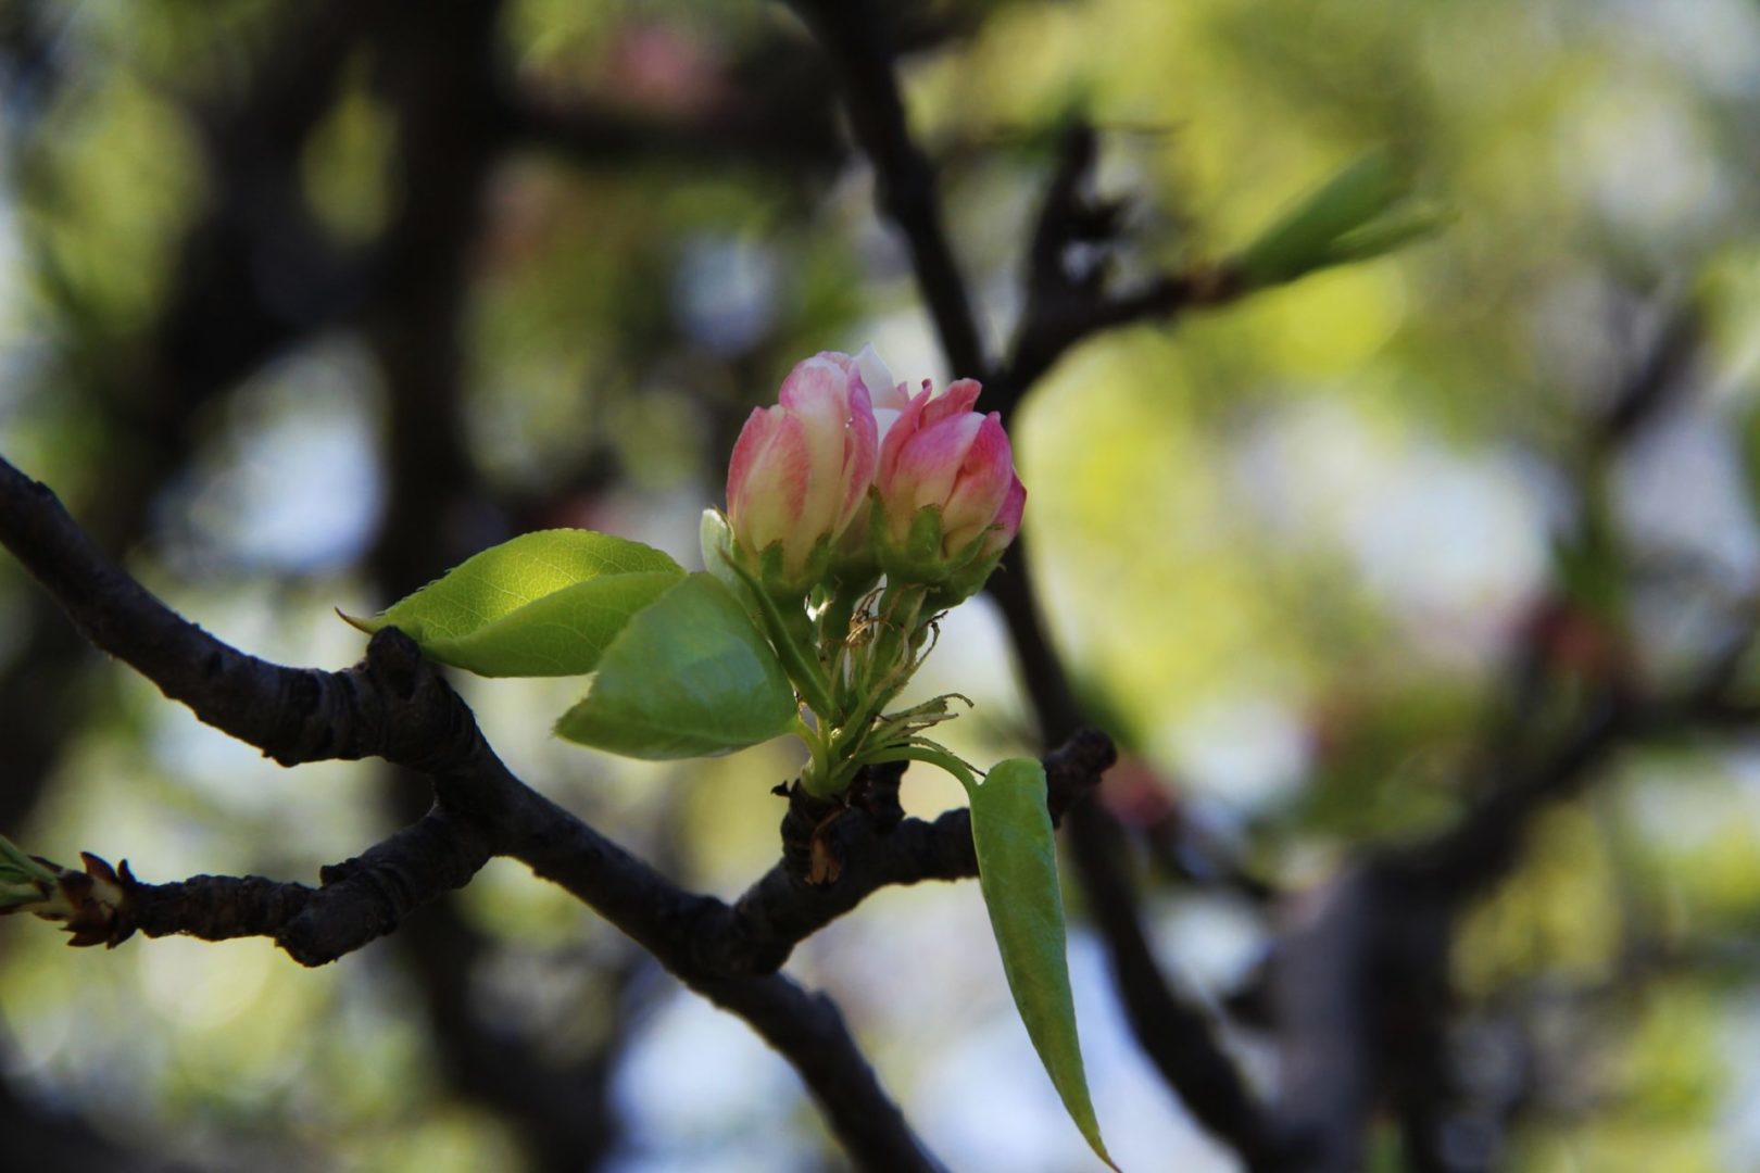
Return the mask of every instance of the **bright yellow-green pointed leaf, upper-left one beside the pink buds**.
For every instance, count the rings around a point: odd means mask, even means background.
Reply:
[[[429,659],[477,675],[584,675],[630,621],[679,584],[660,550],[591,529],[542,529],[459,563],[373,619]]]

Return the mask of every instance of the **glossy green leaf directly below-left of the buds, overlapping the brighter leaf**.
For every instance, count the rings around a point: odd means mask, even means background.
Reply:
[[[693,573],[618,633],[556,733],[628,758],[708,758],[794,721],[776,652],[727,587]]]

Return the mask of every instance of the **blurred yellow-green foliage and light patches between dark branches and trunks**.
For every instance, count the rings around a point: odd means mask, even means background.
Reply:
[[[0,450],[79,506],[130,455],[127,412],[121,426],[107,412],[144,378],[143,336],[180,241],[209,211],[194,111],[248,86],[290,5],[39,7],[53,77],[30,88],[7,74],[0,121]],[[1292,886],[1353,846],[1412,841],[1459,812],[1487,712],[1507,703],[1510,649],[1549,584],[1582,570],[1559,550],[1580,554],[1561,538],[1586,434],[1681,304],[1705,324],[1698,394],[1661,440],[1600,470],[1589,498],[1617,536],[1630,610],[1614,619],[1630,630],[1572,610],[1549,628],[1549,654],[1588,689],[1616,659],[1663,677],[1714,644],[1707,623],[1760,573],[1741,491],[1760,447],[1760,12],[1739,0],[933,7],[973,32],[908,58],[906,102],[945,165],[950,230],[996,345],[1072,111],[1100,128],[1100,186],[1132,202],[1130,244],[1112,259],[1126,281],[1236,255],[1371,149],[1456,211],[1440,237],[1392,257],[1095,339],[1023,408],[1026,529],[1054,635],[1165,800]],[[641,114],[734,102],[750,81],[734,63],[778,37],[817,53],[774,5],[521,0],[502,21],[512,84]],[[299,167],[338,244],[370,244],[422,199],[398,188],[396,146],[373,63],[350,62]],[[465,433],[486,487],[509,508],[542,503],[532,521],[688,557],[739,420],[796,359],[873,339],[901,376],[945,375],[899,241],[875,220],[871,174],[810,171],[688,155],[583,164],[537,144],[509,157],[486,197],[463,339]],[[322,397],[297,389],[315,369],[363,404],[359,419],[310,406]],[[348,324],[259,380],[296,389],[278,401],[296,424],[327,420],[368,454],[385,445],[384,390]],[[370,533],[382,503],[364,491],[289,499],[266,482],[266,448],[241,436],[268,434],[273,415],[192,422],[194,463],[132,565],[241,647],[343,665],[359,642],[329,607],[366,614],[389,600],[370,596],[366,538],[340,557],[312,550],[322,533]],[[1677,433],[1686,447],[1670,448]],[[312,434],[304,448],[271,445],[294,454],[282,470],[294,484],[338,450],[331,433]],[[180,512],[216,498],[260,505],[194,526]],[[1684,521],[1647,521],[1656,510]],[[287,535],[285,556],[264,570],[239,550],[269,531]],[[0,667],[26,623],[12,579],[0,563]],[[977,746],[956,749],[1030,749],[982,619],[936,659],[956,679],[928,684],[982,702],[959,723]],[[359,772],[276,770],[116,672],[88,693],[90,718],[19,835],[51,855],[128,855],[150,878],[312,876],[384,823]],[[769,863],[780,809],[766,790],[794,769],[788,749],[686,770],[618,765],[547,740],[574,693],[565,681],[468,695],[516,770],[681,878],[732,893]],[[1566,681],[1544,703],[1568,714],[1577,696]],[[1526,865],[1470,918],[1456,948],[1464,999],[1544,1018],[1540,1069],[1558,1071],[1521,1115],[1510,1168],[1714,1169],[1760,1147],[1753,1052],[1725,1045],[1753,1015],[1753,969],[1727,953],[1760,923],[1756,779],[1751,747],[1728,744],[1623,763],[1591,802],[1536,828]],[[950,786],[906,786],[919,811],[956,800]],[[957,971],[905,995],[840,957],[880,958],[901,983],[901,950],[936,951],[901,923],[970,927],[933,911],[964,906],[928,902],[975,899],[887,893],[801,964],[845,981],[836,992],[859,1029],[903,1055],[885,1039],[956,1020],[947,1006],[994,974]],[[593,980],[616,958],[604,927],[514,869],[493,867],[465,902],[516,974],[475,974],[486,1004],[563,1052],[604,1041],[625,1013]],[[986,964],[982,934],[949,930],[938,944]],[[1637,944],[1661,960],[1633,965]],[[426,1024],[384,950],[304,973],[266,943],[90,957],[40,925],[5,923],[0,946],[7,1073],[130,1141],[220,1164],[246,1150],[361,1169],[519,1159],[505,1122],[438,1085]],[[977,1064],[982,1027],[961,1025],[970,1034],[949,1029],[936,1046]],[[887,1078],[906,1101],[933,1087],[896,1062]],[[1114,1140],[1107,1094],[1102,1073]],[[1135,1140],[1114,1140],[1126,1168],[1153,1168],[1130,1154],[1186,1136],[1153,1103]],[[762,1120],[706,1145],[757,1143]],[[665,1159],[664,1136],[637,1129],[632,1143]],[[950,1126],[931,1143],[980,1168]],[[1068,1154],[1044,1168],[1058,1161],[1077,1168]]]

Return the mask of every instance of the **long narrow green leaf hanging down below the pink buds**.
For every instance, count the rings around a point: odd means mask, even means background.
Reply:
[[[1063,892],[1045,809],[1045,767],[1031,758],[996,763],[982,783],[956,770],[972,797],[972,842],[991,930],[1016,1009],[1075,1127],[1111,1168],[1088,1096],[1075,1036],[1075,999],[1065,960]]]

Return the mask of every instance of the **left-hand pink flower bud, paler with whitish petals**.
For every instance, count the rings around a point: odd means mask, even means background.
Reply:
[[[727,517],[739,554],[783,594],[818,582],[862,508],[876,433],[855,359],[820,353],[783,380],[780,403],[753,408],[727,470]]]

